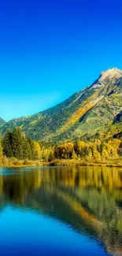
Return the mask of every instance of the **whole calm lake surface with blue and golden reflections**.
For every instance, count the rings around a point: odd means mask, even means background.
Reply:
[[[122,255],[122,169],[0,169],[0,255]]]

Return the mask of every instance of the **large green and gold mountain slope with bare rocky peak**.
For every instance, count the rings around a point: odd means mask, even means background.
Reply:
[[[20,117],[0,128],[20,127],[36,140],[94,139],[122,134],[122,70],[101,73],[91,86],[61,104],[29,117]]]

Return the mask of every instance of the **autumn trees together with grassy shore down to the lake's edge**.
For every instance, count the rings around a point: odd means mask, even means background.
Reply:
[[[75,140],[44,144],[26,137],[20,128],[8,129],[0,141],[0,165],[122,165],[120,139]]]

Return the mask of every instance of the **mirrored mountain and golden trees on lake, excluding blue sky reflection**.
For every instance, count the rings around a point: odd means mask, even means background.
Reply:
[[[56,167],[2,169],[1,208],[9,205],[56,217],[122,254],[122,169]]]

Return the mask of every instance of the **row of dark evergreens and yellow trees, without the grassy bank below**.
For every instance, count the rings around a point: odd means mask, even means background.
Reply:
[[[0,143],[0,158],[18,160],[53,161],[54,159],[85,159],[100,162],[122,156],[122,141],[111,139],[94,142],[74,141],[55,145],[44,145],[32,140],[20,128],[8,129]]]

